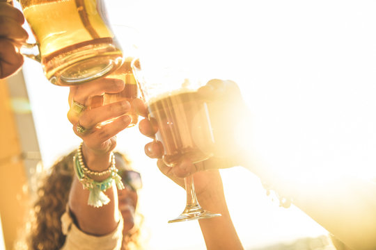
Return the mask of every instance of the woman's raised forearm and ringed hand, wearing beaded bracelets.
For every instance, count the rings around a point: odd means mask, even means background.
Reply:
[[[77,113],[77,110],[70,109],[68,119],[73,124],[73,130],[83,140],[82,155],[85,165],[94,172],[102,172],[109,168],[111,151],[116,147],[116,134],[122,131],[130,123],[130,117],[125,115],[130,109],[127,101],[119,101],[102,106],[100,95],[103,92],[118,92],[123,89],[123,83],[111,79],[102,79],[70,88],[69,102],[72,100],[81,103],[86,108]],[[95,97],[95,98],[93,98]],[[99,103],[93,103],[99,100]],[[102,125],[104,121],[118,117],[113,122]],[[85,133],[77,131],[78,123],[87,128]],[[95,181],[103,181],[105,176],[92,176]],[[83,189],[77,176],[72,183],[69,196],[70,211],[77,222],[77,226],[84,233],[89,235],[106,235],[114,231],[120,220],[118,212],[118,197],[116,187],[112,185],[104,194],[109,197],[107,205],[95,208],[88,205],[89,191]]]

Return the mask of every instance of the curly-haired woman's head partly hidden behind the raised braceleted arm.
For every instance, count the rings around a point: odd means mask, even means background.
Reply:
[[[72,180],[75,177],[72,151],[63,156],[40,178],[36,201],[31,208],[26,234],[17,243],[19,249],[61,249],[65,235],[61,231],[61,216],[65,212]],[[119,210],[124,218],[123,244],[132,242],[138,245],[139,225],[134,226],[134,210],[138,196],[130,188],[134,178],[131,161],[123,153],[116,152],[116,167],[125,183],[125,189],[119,190]],[[128,180],[130,178],[130,180]],[[132,229],[132,231],[131,231]],[[28,247],[26,247],[28,245]]]

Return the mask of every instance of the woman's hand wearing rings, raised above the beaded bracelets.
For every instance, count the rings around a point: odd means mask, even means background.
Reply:
[[[84,141],[82,151],[86,163],[91,167],[101,165],[98,158],[108,160],[116,147],[116,135],[132,121],[126,115],[130,110],[128,101],[103,105],[104,93],[115,94],[123,88],[123,81],[114,78],[100,78],[70,87],[68,119],[75,134]],[[103,166],[108,167],[107,164]]]

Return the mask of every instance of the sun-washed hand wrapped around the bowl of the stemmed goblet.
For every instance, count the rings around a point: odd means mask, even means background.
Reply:
[[[213,79],[201,87],[198,94],[207,102],[210,113],[215,141],[214,157],[200,164],[194,165],[189,159],[185,159],[175,167],[165,167],[162,161],[163,146],[160,142],[153,140],[146,144],[145,153],[150,158],[158,158],[159,169],[168,176],[171,176],[171,172],[175,176],[185,177],[205,169],[248,165],[244,145],[249,140],[250,113],[244,103],[240,88],[233,81]],[[136,99],[134,105],[140,115],[148,117],[148,109],[143,101]],[[143,119],[139,122],[139,129],[143,135],[154,139],[158,127],[153,119]]]

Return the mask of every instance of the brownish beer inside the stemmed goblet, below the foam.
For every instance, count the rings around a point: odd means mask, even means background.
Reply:
[[[150,119],[158,124],[157,140],[164,146],[164,162],[173,166],[190,158],[194,163],[212,156],[214,144],[207,106],[197,92],[166,94],[148,103]]]

